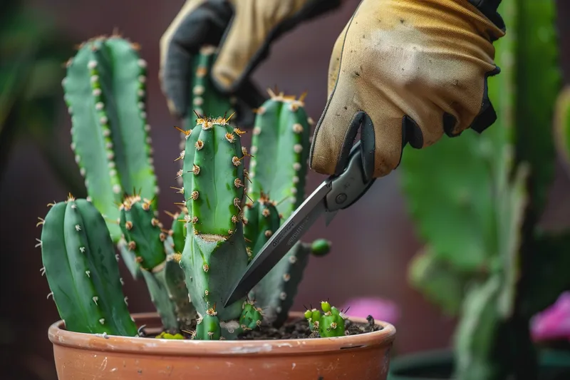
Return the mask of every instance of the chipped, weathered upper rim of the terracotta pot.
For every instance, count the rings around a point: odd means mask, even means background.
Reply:
[[[290,312],[289,318],[302,317],[304,313]],[[135,322],[144,319],[157,320],[156,312],[133,313]],[[367,323],[366,319],[348,317],[353,322]],[[142,337],[120,337],[68,332],[63,328],[63,320],[54,322],[48,329],[48,338],[54,346],[68,346],[90,351],[113,351],[130,354],[152,354],[162,356],[228,356],[255,354],[303,355],[309,352],[327,352],[343,349],[369,349],[373,346],[386,346],[395,339],[395,327],[384,321],[374,320],[383,327],[376,332],[367,332],[344,337],[318,339],[259,339],[259,340],[173,340]],[[139,323],[138,323],[139,324]]]

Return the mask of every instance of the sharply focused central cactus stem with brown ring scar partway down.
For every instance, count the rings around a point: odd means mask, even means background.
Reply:
[[[185,197],[190,219],[180,265],[192,303],[202,315],[209,305],[224,303],[222,297],[248,263],[242,225],[242,159],[247,150],[241,133],[226,118],[200,117],[195,128],[185,132],[186,148],[180,155],[184,186],[178,191]],[[219,307],[217,317],[237,319],[242,302]]]

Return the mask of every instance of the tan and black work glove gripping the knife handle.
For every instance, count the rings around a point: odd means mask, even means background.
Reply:
[[[363,0],[333,48],[311,169],[340,174],[360,126],[369,178],[395,169],[406,143],[482,132],[496,120],[487,76],[503,35],[467,0]]]

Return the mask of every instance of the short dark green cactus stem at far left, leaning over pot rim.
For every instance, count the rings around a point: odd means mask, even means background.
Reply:
[[[103,216],[69,195],[51,205],[41,231],[43,273],[71,332],[138,335]]]

